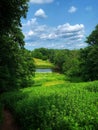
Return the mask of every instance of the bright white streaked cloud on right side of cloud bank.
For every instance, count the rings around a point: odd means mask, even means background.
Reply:
[[[51,33],[50,33],[51,32]],[[44,33],[41,35],[41,39],[49,40],[49,39],[82,39],[84,36],[84,25],[76,24],[70,25],[69,23],[59,25],[55,29],[51,29],[51,31]]]

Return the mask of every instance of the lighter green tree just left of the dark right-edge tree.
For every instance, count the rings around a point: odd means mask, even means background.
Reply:
[[[72,82],[80,82],[80,51],[70,50],[69,54],[66,55],[66,60],[63,64],[63,73]]]

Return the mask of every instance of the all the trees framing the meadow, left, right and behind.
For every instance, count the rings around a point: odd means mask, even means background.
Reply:
[[[0,93],[32,84],[32,57],[50,60],[54,70],[69,79],[98,80],[98,25],[87,37],[88,47],[80,50],[24,48],[21,18],[26,18],[28,0],[0,0]]]

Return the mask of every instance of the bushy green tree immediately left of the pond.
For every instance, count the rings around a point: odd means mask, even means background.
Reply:
[[[35,65],[30,51],[22,49],[17,69],[17,83],[18,86],[27,87],[33,84],[32,77],[35,72]],[[20,78],[18,78],[20,77]]]

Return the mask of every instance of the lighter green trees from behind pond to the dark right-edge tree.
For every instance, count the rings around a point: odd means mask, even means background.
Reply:
[[[31,53],[33,57],[48,60],[51,63],[53,63],[54,71],[65,74],[66,76],[69,77],[70,80],[72,80],[73,77],[74,80],[79,79],[79,77],[81,79],[80,67],[79,67],[80,65],[79,50],[67,50],[67,49],[58,50],[58,49],[39,48],[35,49]]]

